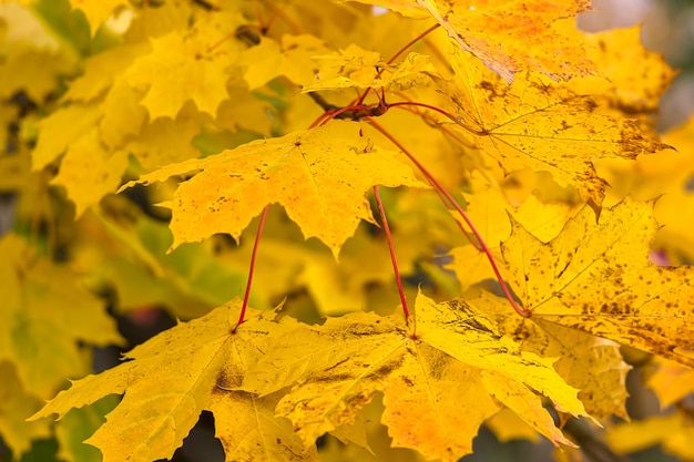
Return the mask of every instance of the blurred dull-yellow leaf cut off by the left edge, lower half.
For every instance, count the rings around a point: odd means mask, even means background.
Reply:
[[[48,398],[65,378],[86,373],[91,365],[84,360],[81,342],[122,345],[103,301],[64,265],[32,261],[30,247],[13,234],[0,239],[0,312],[6,320],[0,329],[0,360],[14,363],[24,390]]]

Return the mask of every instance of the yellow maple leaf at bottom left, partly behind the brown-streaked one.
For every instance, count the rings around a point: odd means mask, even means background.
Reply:
[[[267,352],[268,333],[284,336],[296,321],[277,320],[274,310],[253,311],[233,332],[239,308],[235,300],[160,333],[130,351],[127,361],[73,382],[31,419],[62,417],[106,394],[125,393],[88,440],[104,462],[171,459],[203,410],[215,414],[226,460],[317,461],[315,448],[305,449],[289,422],[273,415],[278,396],[233,390]]]

